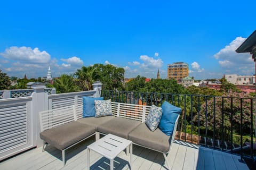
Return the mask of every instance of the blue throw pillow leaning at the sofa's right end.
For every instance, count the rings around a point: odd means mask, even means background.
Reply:
[[[163,114],[158,127],[166,135],[171,136],[173,133],[175,121],[177,120],[177,117],[181,113],[181,108],[173,106],[167,101],[164,101],[162,109]]]

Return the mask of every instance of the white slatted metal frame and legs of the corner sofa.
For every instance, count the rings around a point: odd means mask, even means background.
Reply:
[[[141,121],[141,123],[143,123],[146,121],[146,118],[148,116],[151,106],[111,102],[111,107],[112,107],[113,116],[130,118],[131,120]],[[83,104],[66,106],[66,107],[61,107],[61,108],[57,108],[57,109],[51,109],[48,111],[40,112],[39,115],[40,115],[39,117],[40,117],[41,132],[43,132],[47,129],[51,129],[51,128],[60,126],[62,124],[68,123],[68,122],[77,121],[79,118],[82,118],[83,117]],[[175,132],[177,130],[178,120],[179,120],[179,116],[177,117],[177,120],[175,121],[172,139],[170,142],[170,149],[171,149],[173,140],[175,138]],[[100,134],[102,134],[102,133],[95,132],[95,133],[91,134],[89,137],[86,137],[85,139],[92,137],[92,135],[94,135],[94,134],[95,134],[95,140],[98,140],[100,138]],[[68,148],[73,147],[77,143],[84,141],[85,139],[82,139],[82,140],[74,143],[73,145],[62,150],[63,166],[65,166],[65,151]],[[145,147],[145,146],[139,145],[138,143],[133,142],[133,144],[141,146],[141,147]],[[43,141],[43,150],[42,151],[44,151],[45,146],[46,146],[46,143],[45,143],[45,141]],[[147,148],[147,147],[145,147],[145,148]],[[148,148],[148,149],[151,149],[151,148]],[[170,151],[170,149],[169,149],[169,151]],[[151,150],[155,150],[155,149],[151,149]],[[167,154],[169,153],[169,151],[167,151],[167,152],[162,152],[159,150],[155,150],[155,151],[161,152],[163,154],[165,162],[167,164],[167,168],[170,169],[170,165],[167,160]]]

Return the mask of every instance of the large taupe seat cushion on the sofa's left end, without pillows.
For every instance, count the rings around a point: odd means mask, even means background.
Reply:
[[[69,122],[40,133],[40,138],[62,150],[95,133],[95,127],[79,122]]]

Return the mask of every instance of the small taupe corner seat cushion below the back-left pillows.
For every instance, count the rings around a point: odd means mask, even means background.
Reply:
[[[105,123],[115,116],[103,116],[103,117],[84,117],[77,120],[77,122],[88,124],[94,126],[98,130],[98,126],[102,123]]]

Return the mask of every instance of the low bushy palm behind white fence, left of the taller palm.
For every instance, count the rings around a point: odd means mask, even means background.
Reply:
[[[53,86],[55,87],[57,94],[81,90],[76,85],[73,76],[67,74],[62,74],[59,79],[55,79]]]

